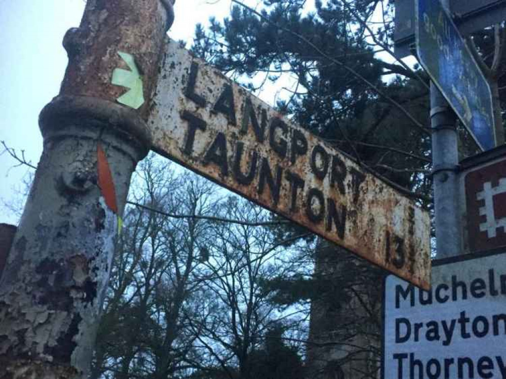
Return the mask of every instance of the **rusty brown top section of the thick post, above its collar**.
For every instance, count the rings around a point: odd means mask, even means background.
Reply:
[[[166,27],[173,18],[170,1],[138,0],[89,2],[79,28],[64,38],[69,64],[61,95],[89,96],[115,102],[124,88],[111,84],[112,72],[121,66],[117,51],[135,57],[143,71],[146,101],[139,114],[146,117],[158,76]]]

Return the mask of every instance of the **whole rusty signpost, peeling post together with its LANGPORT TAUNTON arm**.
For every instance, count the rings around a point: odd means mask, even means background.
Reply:
[[[40,114],[44,152],[0,281],[0,379],[88,376],[130,178],[150,148],[429,286],[428,214],[167,43],[172,4],[89,0],[65,36],[69,65]]]

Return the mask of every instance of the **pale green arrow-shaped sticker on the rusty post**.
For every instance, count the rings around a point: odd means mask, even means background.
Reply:
[[[131,71],[116,68],[112,72],[111,83],[115,86],[130,88],[130,91],[121,95],[116,100],[134,109],[138,109],[144,104],[144,95],[142,89],[142,79],[135,64],[134,57],[128,53],[118,51],[119,56],[128,64]]]

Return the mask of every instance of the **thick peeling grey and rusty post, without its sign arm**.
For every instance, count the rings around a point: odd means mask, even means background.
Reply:
[[[40,114],[44,151],[0,281],[0,379],[87,377],[172,19],[168,0],[88,0],[64,38],[69,64]],[[111,83],[116,68],[132,66],[143,75],[138,109],[116,100],[139,80]]]

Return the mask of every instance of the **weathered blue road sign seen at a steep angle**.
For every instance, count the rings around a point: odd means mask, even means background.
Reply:
[[[495,146],[490,86],[439,0],[416,0],[418,60],[483,150]]]

